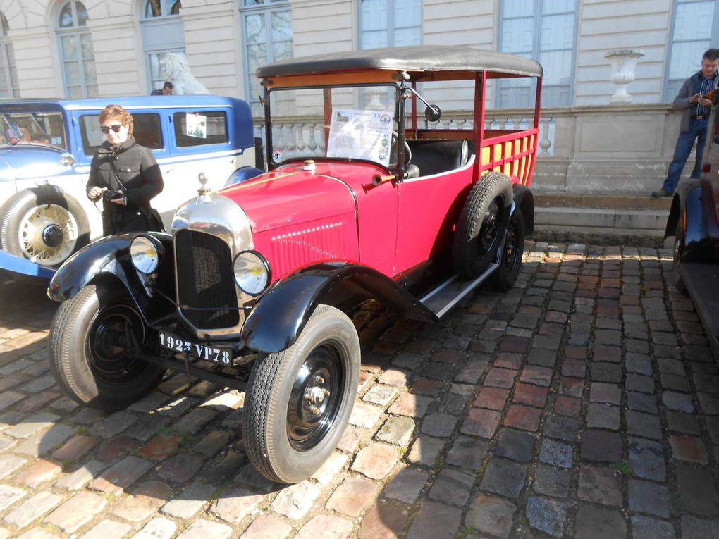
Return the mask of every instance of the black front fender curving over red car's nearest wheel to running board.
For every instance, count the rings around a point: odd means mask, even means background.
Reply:
[[[415,296],[382,273],[358,264],[326,262],[275,282],[247,316],[241,337],[251,349],[278,352],[297,340],[317,305],[342,308],[349,300],[357,305],[356,301],[370,298],[408,318],[437,320]]]

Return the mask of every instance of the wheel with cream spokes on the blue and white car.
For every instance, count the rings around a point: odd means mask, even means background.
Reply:
[[[19,191],[0,207],[0,247],[41,266],[60,266],[89,241],[82,206],[54,185]]]

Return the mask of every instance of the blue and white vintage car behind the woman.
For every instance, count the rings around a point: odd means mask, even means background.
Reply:
[[[214,190],[255,173],[252,114],[239,99],[0,101],[0,269],[48,277],[101,236],[101,205],[88,200],[85,185],[103,142],[98,115],[109,103],[132,114],[137,143],[160,165],[165,188],[152,206],[168,230],[175,208],[196,195],[198,175]]]

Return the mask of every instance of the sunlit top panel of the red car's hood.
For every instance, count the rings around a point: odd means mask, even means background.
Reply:
[[[242,207],[255,234],[355,213],[357,204],[349,185],[318,172],[323,171],[308,172],[301,167],[274,170],[219,194]]]

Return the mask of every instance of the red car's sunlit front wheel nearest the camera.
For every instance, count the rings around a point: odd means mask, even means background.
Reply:
[[[290,348],[255,361],[242,432],[260,474],[298,483],[326,461],[352,413],[360,359],[352,321],[319,305]]]

